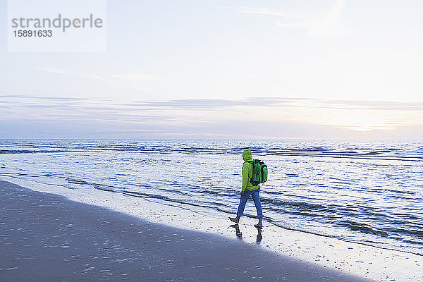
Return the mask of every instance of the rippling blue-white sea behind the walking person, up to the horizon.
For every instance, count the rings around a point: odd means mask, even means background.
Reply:
[[[266,224],[423,255],[423,141],[0,140],[0,176],[230,215],[244,149],[269,169]]]

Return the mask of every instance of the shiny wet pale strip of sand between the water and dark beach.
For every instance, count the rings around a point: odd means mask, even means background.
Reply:
[[[322,238],[319,235],[269,226],[269,223],[264,223],[262,239],[257,243],[257,229],[252,227],[255,219],[242,219],[239,225],[242,235],[239,236],[235,229],[230,227],[227,215],[215,210],[187,207],[186,204],[163,204],[156,199],[128,197],[120,193],[95,189],[69,190],[56,185],[5,176],[1,176],[0,179],[39,192],[63,195],[76,202],[113,209],[153,223],[223,235],[231,239],[238,238],[247,245],[259,245],[262,249],[278,255],[293,257],[317,267],[336,269],[374,281],[423,279],[421,270],[423,259],[418,255],[344,242],[336,238]]]

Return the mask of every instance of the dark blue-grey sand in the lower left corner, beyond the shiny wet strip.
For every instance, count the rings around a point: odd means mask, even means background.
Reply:
[[[0,181],[0,281],[367,281]]]

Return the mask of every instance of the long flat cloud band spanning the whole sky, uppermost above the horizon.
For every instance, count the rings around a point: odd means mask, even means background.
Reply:
[[[355,101],[289,97],[250,97],[238,100],[229,99],[174,99],[164,102],[135,101],[133,103],[114,103],[78,97],[42,97],[29,95],[0,95],[3,103],[19,107],[44,106],[90,106],[93,109],[117,109],[130,111],[152,111],[154,109],[190,109],[190,110],[221,110],[233,107],[281,107],[281,108],[311,108],[311,109],[342,109],[342,110],[377,110],[377,111],[423,111],[422,102],[387,102],[387,101]],[[43,101],[44,100],[44,101]],[[37,101],[37,102],[34,102]],[[105,106],[107,105],[107,106]]]

